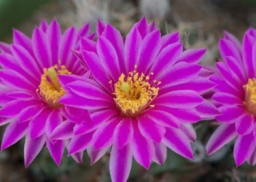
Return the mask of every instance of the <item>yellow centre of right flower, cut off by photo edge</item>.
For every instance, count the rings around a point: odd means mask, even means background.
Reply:
[[[256,116],[256,79],[248,79],[248,83],[243,87],[245,92],[244,106],[248,112]]]

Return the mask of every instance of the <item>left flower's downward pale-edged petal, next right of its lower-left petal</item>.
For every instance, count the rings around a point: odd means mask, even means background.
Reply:
[[[31,140],[30,136],[26,135],[24,145],[24,161],[26,168],[34,161],[35,157],[37,157],[44,146],[45,140],[46,138],[44,135],[39,136],[34,140]]]

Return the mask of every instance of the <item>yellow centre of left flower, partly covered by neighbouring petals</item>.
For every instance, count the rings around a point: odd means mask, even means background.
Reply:
[[[72,73],[67,70],[66,66],[52,66],[50,68],[44,68],[44,73],[41,75],[41,82],[39,90],[37,90],[44,99],[44,101],[52,108],[61,107],[61,103],[57,101],[66,94],[57,75],[71,75]]]

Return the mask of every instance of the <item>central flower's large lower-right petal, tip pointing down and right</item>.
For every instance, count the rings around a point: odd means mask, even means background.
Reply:
[[[187,159],[193,159],[189,138],[180,129],[168,128],[163,138],[163,144]]]

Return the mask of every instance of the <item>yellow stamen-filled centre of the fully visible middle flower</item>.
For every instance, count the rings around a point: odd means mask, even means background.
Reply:
[[[153,75],[153,73],[151,73]],[[115,101],[121,114],[127,117],[136,117],[142,113],[147,107],[154,107],[150,105],[153,98],[158,94],[161,82],[153,81],[149,83],[149,76],[144,73],[137,73],[135,70],[129,72],[129,76],[121,73],[118,82],[115,83]]]

